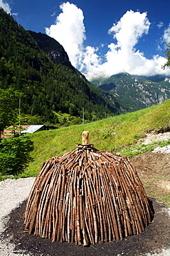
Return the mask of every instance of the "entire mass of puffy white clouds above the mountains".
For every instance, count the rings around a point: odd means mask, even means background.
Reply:
[[[100,56],[98,48],[84,46],[86,36],[83,11],[69,2],[63,3],[60,8],[62,12],[56,17],[56,23],[50,28],[45,28],[46,33],[63,45],[73,66],[85,71],[87,79],[120,72],[134,75],[170,75],[169,68],[161,68],[166,62],[164,57],[156,55],[149,60],[144,53],[136,49],[139,39],[149,32],[147,12],[129,10],[120,21],[113,24],[108,31],[113,37],[113,42],[107,46],[105,56]],[[161,26],[160,22],[159,27]],[[169,37],[170,25],[164,31],[164,41],[168,42]]]

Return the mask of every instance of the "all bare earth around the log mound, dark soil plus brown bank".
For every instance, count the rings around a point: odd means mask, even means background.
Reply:
[[[170,192],[170,155],[162,153],[145,153],[132,158],[145,190],[150,193],[149,201],[153,208],[153,221],[140,235],[134,235],[123,241],[95,244],[89,247],[69,243],[52,243],[49,239],[35,237],[25,232],[23,226],[23,211],[25,202],[10,213],[3,237],[10,237],[9,242],[15,245],[14,253],[29,253],[29,255],[152,255],[170,248],[170,209],[164,203],[153,199]],[[153,195],[153,196],[152,196]],[[156,197],[155,197],[156,198]],[[24,253],[23,253],[24,255]]]

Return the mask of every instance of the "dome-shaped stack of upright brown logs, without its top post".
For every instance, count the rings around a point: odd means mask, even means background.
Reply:
[[[43,163],[24,213],[29,233],[84,246],[139,234],[151,218],[129,158],[90,144]]]

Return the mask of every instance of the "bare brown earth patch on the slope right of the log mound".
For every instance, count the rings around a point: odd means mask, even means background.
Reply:
[[[170,154],[147,152],[131,160],[147,195],[164,203],[170,201]]]

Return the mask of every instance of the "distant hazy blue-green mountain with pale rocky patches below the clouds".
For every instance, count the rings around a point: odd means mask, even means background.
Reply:
[[[164,75],[151,77],[119,73],[111,77],[100,77],[92,84],[106,90],[121,102],[127,109],[136,111],[162,103],[170,98],[170,78]]]

